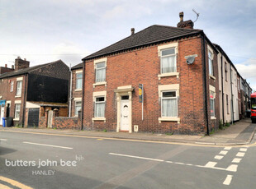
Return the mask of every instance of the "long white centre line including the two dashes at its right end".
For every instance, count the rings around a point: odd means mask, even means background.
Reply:
[[[180,162],[165,161],[164,159],[145,158],[145,157],[129,155],[129,154],[116,154],[116,153],[108,153],[108,154],[122,156],[122,157],[128,157],[128,158],[135,158],[135,159],[146,159],[146,160],[151,160],[151,161],[159,161],[159,162],[164,162],[164,163],[168,163],[168,164],[182,164],[182,165],[187,165],[187,166],[194,166],[197,168],[212,168],[212,169],[217,169],[217,170],[222,170],[222,171],[230,171],[230,172],[237,171],[236,164],[231,164],[228,168],[216,168],[215,165],[217,163],[211,162],[211,161],[208,162],[205,166],[203,166],[203,165],[197,165],[197,164],[184,164],[184,163],[180,163]]]

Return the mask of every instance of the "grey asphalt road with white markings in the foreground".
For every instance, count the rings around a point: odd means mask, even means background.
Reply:
[[[0,131],[0,188],[240,189],[255,188],[255,180],[256,145],[174,145]]]

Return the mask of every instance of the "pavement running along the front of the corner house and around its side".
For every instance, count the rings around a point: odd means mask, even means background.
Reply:
[[[127,133],[112,131],[80,131],[70,129],[50,129],[50,128],[17,128],[17,127],[0,127],[0,131],[21,131],[31,133],[45,133],[55,135],[71,135],[98,137],[108,139],[126,139],[138,141],[163,141],[189,143],[197,145],[248,145],[254,137],[256,124],[251,122],[250,118],[245,118],[224,130],[218,130],[210,136],[187,136],[187,135],[167,135],[155,133]]]

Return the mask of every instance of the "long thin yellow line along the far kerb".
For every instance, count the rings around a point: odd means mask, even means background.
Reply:
[[[4,130],[0,130],[4,131]],[[215,147],[220,148],[224,146],[232,146],[233,148],[240,148],[244,145],[197,145],[191,143],[183,143],[183,142],[169,142],[169,141],[146,141],[146,140],[139,140],[139,139],[123,139],[123,138],[111,138],[105,136],[79,136],[79,135],[68,135],[68,134],[54,134],[54,133],[43,133],[43,132],[32,132],[32,131],[5,131],[5,132],[20,132],[26,134],[35,134],[35,135],[47,135],[47,136],[69,136],[69,137],[80,137],[80,138],[90,138],[90,139],[105,139],[105,140],[112,140],[112,141],[135,141],[135,142],[145,142],[145,143],[156,143],[156,144],[166,144],[166,145],[190,145],[190,146],[201,146],[201,147]],[[254,146],[256,143],[247,145],[247,146]]]

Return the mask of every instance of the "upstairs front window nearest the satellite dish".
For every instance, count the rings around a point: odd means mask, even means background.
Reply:
[[[177,71],[175,48],[161,50],[161,73]]]

